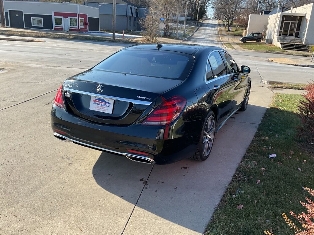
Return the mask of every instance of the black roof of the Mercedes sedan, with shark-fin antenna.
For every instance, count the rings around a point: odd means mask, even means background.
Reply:
[[[158,50],[156,48],[157,44],[137,44],[133,46],[129,46],[125,49],[150,49],[150,50]],[[208,49],[208,51],[212,50],[224,50],[219,47],[215,46],[202,46],[202,45],[195,45],[195,44],[162,44],[162,47],[159,50],[166,50],[166,51],[175,51],[193,55],[200,49]]]

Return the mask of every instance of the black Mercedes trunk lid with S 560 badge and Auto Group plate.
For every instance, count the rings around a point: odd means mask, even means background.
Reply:
[[[182,81],[87,70],[63,85],[69,112],[97,123],[134,123],[154,99]],[[97,89],[99,88],[99,89]]]

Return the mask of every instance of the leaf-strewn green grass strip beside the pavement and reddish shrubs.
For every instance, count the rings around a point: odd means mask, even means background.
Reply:
[[[301,123],[295,114],[300,99],[300,95],[274,96],[206,235],[264,234],[264,230],[294,234],[281,214],[305,211],[300,201],[308,194],[302,187],[314,187],[313,153],[300,147],[304,144],[298,132]],[[275,153],[277,157],[268,158]],[[240,205],[242,209],[237,209]]]

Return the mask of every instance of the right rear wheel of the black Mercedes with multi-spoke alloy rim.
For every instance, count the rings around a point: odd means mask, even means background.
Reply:
[[[212,121],[214,123],[212,123]],[[208,122],[210,123],[208,124]],[[198,148],[196,150],[196,153],[191,157],[191,159],[196,160],[196,161],[205,161],[206,159],[208,159],[208,156],[210,155],[214,146],[215,132],[216,132],[215,114],[213,111],[209,111],[204,121],[202,131],[200,133]],[[206,140],[204,141],[205,138]],[[208,150],[208,147],[209,147],[209,150]],[[204,154],[205,151],[206,151],[206,154]]]

